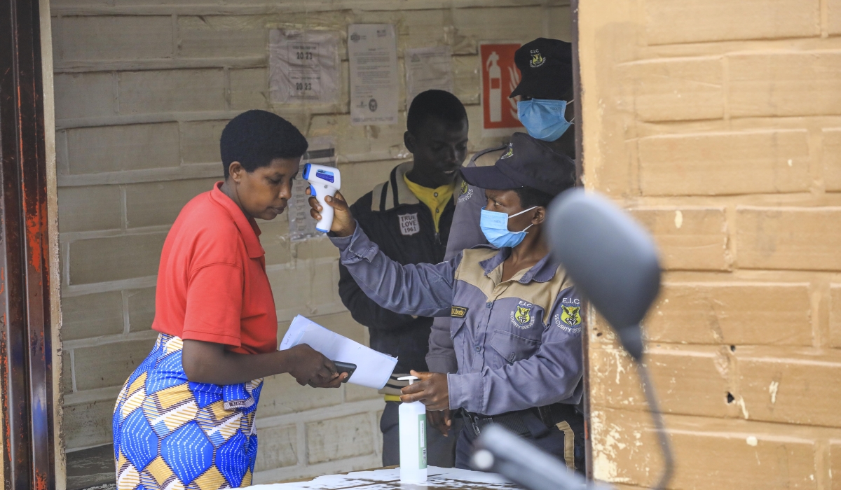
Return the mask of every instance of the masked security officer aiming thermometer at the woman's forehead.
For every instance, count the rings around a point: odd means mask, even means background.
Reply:
[[[421,378],[401,401],[458,410],[465,424],[456,466],[467,468],[473,440],[502,424],[570,468],[584,467],[580,301],[543,240],[546,209],[575,183],[574,165],[540,140],[514,134],[495,166],[463,168],[485,189],[480,226],[494,246],[463,250],[438,264],[390,260],[368,240],[336,193],[331,240],[359,287],[395,313],[452,319],[457,371]],[[320,219],[315,198],[310,214]]]

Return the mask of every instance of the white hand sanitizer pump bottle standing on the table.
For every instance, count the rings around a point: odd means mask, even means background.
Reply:
[[[417,377],[405,376],[412,384]],[[400,482],[426,482],[426,406],[421,402],[400,403]]]

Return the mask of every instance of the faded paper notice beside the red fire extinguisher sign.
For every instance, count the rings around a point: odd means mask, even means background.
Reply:
[[[421,92],[437,89],[452,93],[450,46],[408,49],[403,58],[406,64],[406,110]]]

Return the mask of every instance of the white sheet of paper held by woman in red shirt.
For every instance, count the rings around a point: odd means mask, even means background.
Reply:
[[[333,361],[356,364],[357,370],[347,382],[363,387],[381,389],[397,366],[396,357],[336,334],[301,315],[292,320],[278,350],[287,350],[299,344],[309,345]]]

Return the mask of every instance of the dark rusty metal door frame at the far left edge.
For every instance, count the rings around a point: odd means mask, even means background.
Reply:
[[[0,402],[4,486],[51,490],[58,438],[50,301],[57,285],[50,263],[57,254],[48,214],[55,209],[47,205],[55,175],[48,175],[47,161],[54,162],[55,147],[48,158],[52,84],[50,73],[46,98],[41,8],[37,1],[0,0]]]

